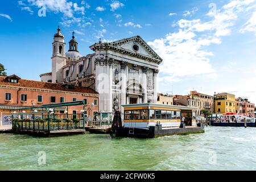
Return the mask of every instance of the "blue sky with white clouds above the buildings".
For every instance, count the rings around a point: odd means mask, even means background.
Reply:
[[[0,63],[30,80],[51,71],[57,27],[82,55],[101,38],[141,36],[163,58],[158,91],[228,92],[256,103],[256,0],[0,0]],[[68,47],[67,47],[68,49]]]

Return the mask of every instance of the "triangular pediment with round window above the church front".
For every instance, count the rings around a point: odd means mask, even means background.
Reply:
[[[151,57],[162,61],[162,58],[140,37],[133,36],[127,39],[117,40],[109,43],[111,46],[122,48],[139,55]]]

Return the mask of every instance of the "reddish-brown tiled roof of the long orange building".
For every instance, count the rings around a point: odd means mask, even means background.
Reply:
[[[15,86],[17,88],[32,88],[32,89],[57,90],[57,91],[63,91],[63,92],[98,94],[95,90],[91,88],[74,86],[73,89],[68,89],[64,84],[53,84],[49,82],[34,81],[34,80],[20,79],[19,83],[15,84],[7,81],[5,76],[0,76],[0,85]]]

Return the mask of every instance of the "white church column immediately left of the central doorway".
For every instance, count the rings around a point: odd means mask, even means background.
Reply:
[[[122,61],[121,62],[121,97],[120,97],[120,103],[121,105],[126,105],[126,68],[127,68],[127,62]],[[124,113],[123,107],[121,107],[121,114]]]

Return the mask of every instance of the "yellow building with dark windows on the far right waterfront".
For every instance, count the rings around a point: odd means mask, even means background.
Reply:
[[[236,96],[230,93],[214,95],[215,113],[236,113]]]

